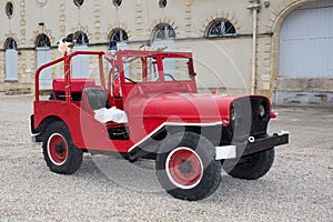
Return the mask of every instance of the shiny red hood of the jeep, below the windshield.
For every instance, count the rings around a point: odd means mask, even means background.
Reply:
[[[168,122],[230,122],[230,105],[240,97],[196,93],[155,93],[129,98],[133,118],[163,119]],[[244,98],[244,97],[242,97]]]

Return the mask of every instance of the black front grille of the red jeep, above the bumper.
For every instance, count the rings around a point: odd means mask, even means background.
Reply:
[[[260,107],[264,115],[260,115]],[[270,121],[270,103],[265,98],[241,98],[232,103],[234,119],[229,130],[233,141],[244,141],[249,137],[260,138],[266,134]],[[232,112],[232,111],[231,111]]]

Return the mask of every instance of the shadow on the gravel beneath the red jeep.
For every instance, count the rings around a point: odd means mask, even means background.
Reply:
[[[168,195],[157,179],[154,164],[154,161],[130,163],[124,159],[109,155],[84,155],[82,167],[74,176],[89,179],[95,186],[115,185],[143,195],[144,193]],[[221,203],[228,199],[268,199],[266,192],[274,186],[274,181],[265,178],[245,181],[231,178],[223,172],[218,190],[210,198],[199,202]]]

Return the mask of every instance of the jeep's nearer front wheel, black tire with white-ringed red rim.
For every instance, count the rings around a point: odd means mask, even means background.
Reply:
[[[204,137],[192,132],[169,134],[157,155],[157,175],[169,194],[196,201],[218,189],[221,162],[215,160],[214,145]]]

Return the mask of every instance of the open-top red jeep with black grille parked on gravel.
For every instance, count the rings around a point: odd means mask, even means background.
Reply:
[[[97,57],[95,78],[72,78],[82,56]],[[57,63],[64,75],[42,100],[40,73]],[[53,172],[74,173],[83,152],[153,159],[168,193],[193,201],[215,191],[221,168],[246,180],[270,170],[274,147],[289,140],[266,133],[271,118],[265,97],[198,93],[191,53],[75,51],[37,70],[31,131]]]

